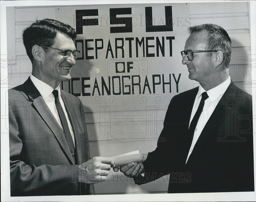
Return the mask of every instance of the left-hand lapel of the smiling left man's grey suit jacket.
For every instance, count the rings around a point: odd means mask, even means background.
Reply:
[[[28,101],[31,103],[31,106],[37,110],[38,114],[42,117],[52,133],[55,135],[60,147],[62,148],[62,151],[65,153],[70,163],[74,164],[74,159],[71,158],[70,149],[62,129],[30,78],[28,78],[28,80],[25,82],[25,88]]]

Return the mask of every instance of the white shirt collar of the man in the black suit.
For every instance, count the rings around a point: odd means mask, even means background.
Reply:
[[[204,90],[203,87],[199,83],[199,89],[198,89],[198,93],[196,95],[196,99],[198,99],[203,92],[207,92],[207,95],[211,99],[211,102],[213,102],[214,100],[216,100],[218,97],[221,97],[225,93],[225,91],[227,90],[230,83],[231,83],[231,79],[230,79],[230,76],[228,76],[228,79],[226,81],[224,81],[220,85],[218,85],[208,91]]]

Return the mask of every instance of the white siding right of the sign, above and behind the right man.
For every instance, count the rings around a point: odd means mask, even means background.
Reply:
[[[232,41],[229,75],[241,89],[251,93],[248,59],[251,59],[249,2],[190,4],[191,26],[204,23],[218,24],[229,34]],[[244,63],[244,65],[240,62]],[[243,69],[243,67],[245,69]],[[195,81],[194,85],[198,83]]]

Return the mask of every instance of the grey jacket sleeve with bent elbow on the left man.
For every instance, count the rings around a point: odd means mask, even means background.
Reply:
[[[70,195],[77,192],[78,165],[26,165],[20,160],[23,142],[20,138],[17,110],[9,103],[9,148],[11,196]]]

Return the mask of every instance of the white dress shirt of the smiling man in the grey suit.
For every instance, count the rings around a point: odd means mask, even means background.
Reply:
[[[75,146],[75,138],[74,138],[73,129],[72,129],[71,123],[69,121],[68,114],[67,114],[67,111],[65,109],[65,105],[64,105],[63,100],[62,100],[61,95],[60,95],[60,85],[58,85],[56,87],[56,89],[53,89],[51,86],[49,86],[45,82],[37,79],[32,74],[30,75],[30,79],[33,82],[33,84],[36,86],[37,90],[39,91],[42,98],[44,99],[46,105],[50,109],[52,115],[54,116],[56,121],[59,123],[61,129],[63,130],[61,122],[60,122],[60,117],[59,117],[59,114],[58,114],[58,111],[57,111],[57,108],[56,108],[56,105],[55,105],[55,97],[52,94],[53,90],[58,90],[60,104],[61,104],[61,107],[62,107],[64,113],[65,113],[65,116],[66,116],[66,119],[67,119],[67,122],[68,122],[69,131],[70,131],[70,134],[71,134],[74,146]]]

